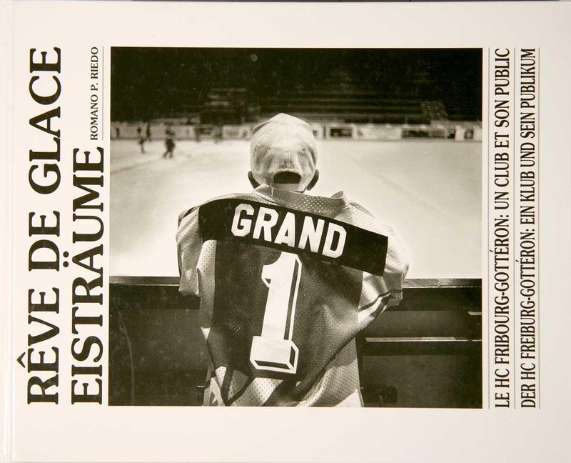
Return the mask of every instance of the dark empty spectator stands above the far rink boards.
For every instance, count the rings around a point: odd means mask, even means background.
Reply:
[[[113,138],[130,138],[131,129],[121,128],[121,123],[179,124],[198,131],[200,126],[251,129],[279,112],[322,126],[406,126],[408,138],[477,139],[475,132],[481,127],[481,92],[474,91],[481,88],[478,50],[117,49],[115,53]],[[160,65],[161,73],[148,69],[148,62]],[[462,126],[458,136],[450,123]],[[433,124],[445,124],[447,129],[417,127]],[[203,134],[208,136],[208,130]]]

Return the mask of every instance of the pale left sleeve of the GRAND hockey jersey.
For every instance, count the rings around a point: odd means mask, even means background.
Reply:
[[[202,238],[198,225],[198,207],[178,216],[176,247],[178,272],[181,282],[178,290],[183,294],[198,296],[198,258],[201,255]]]

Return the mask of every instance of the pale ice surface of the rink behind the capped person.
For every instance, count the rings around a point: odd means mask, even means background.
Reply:
[[[318,141],[310,193],[348,198],[390,224],[408,247],[408,278],[480,278],[482,144],[436,140]],[[183,209],[251,191],[249,141],[163,141],[141,154],[111,141],[111,275],[175,276]]]

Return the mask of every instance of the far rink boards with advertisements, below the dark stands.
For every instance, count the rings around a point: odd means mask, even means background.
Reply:
[[[450,139],[454,141],[482,141],[482,127],[476,122],[438,121],[432,124],[319,124],[311,123],[315,139],[352,139],[363,141],[397,141],[401,139]],[[213,126],[207,124],[171,124],[178,140],[250,139],[252,125]],[[167,125],[150,124],[151,139],[164,139]],[[140,130],[138,130],[140,129]],[[147,136],[146,124],[111,122],[111,139],[138,139]]]

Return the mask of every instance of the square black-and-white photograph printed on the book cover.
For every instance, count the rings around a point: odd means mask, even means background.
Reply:
[[[482,407],[482,49],[111,48],[110,405]]]

